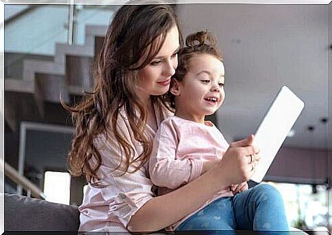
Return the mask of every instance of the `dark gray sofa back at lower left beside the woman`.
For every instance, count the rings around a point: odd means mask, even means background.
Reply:
[[[76,206],[5,193],[5,231],[77,231]]]

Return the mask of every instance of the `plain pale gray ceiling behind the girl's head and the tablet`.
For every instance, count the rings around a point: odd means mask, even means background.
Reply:
[[[184,36],[207,29],[218,38],[226,67],[218,124],[228,141],[255,133],[279,87],[287,85],[305,109],[284,145],[327,148],[327,124],[320,118],[328,117],[331,6],[184,4],[177,11]]]

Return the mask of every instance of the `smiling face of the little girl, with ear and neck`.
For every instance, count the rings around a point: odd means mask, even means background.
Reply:
[[[222,61],[212,55],[194,55],[183,80],[171,88],[177,96],[175,114],[204,122],[205,115],[213,114],[222,105],[225,99],[224,83],[225,67]]]

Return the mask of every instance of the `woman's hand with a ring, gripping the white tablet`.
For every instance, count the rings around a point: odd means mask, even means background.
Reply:
[[[218,163],[218,168],[226,175],[229,185],[246,182],[255,173],[255,167],[260,157],[259,149],[253,146],[254,138],[251,135],[246,139],[231,143]]]

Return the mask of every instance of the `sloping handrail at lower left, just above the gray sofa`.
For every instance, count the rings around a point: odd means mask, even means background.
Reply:
[[[8,176],[16,184],[21,184],[23,186],[23,189],[31,191],[31,195],[42,199],[46,198],[46,195],[44,195],[44,193],[42,193],[42,191],[38,189],[38,187],[34,183],[32,183],[24,176],[21,176],[21,174],[19,174],[18,171],[14,169],[14,167],[12,167],[0,158],[0,170],[3,171],[3,169],[5,171],[5,176]]]

